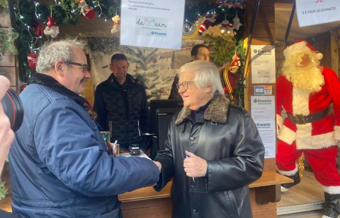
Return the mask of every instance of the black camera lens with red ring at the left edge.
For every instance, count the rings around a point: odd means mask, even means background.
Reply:
[[[24,119],[24,109],[19,95],[12,89],[8,89],[5,96],[1,99],[1,104],[3,111],[9,118],[11,129],[14,132],[17,131]]]

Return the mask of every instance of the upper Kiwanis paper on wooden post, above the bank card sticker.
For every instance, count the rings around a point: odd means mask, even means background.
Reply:
[[[251,46],[252,83],[275,82],[274,46]]]

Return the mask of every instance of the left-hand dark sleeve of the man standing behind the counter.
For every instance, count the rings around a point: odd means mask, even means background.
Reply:
[[[97,112],[97,122],[99,125],[101,125],[102,129],[101,131],[109,131],[108,123],[106,122],[106,104],[104,102],[104,99],[102,97],[103,89],[102,89],[102,83],[97,86],[95,97],[94,97],[94,111]]]

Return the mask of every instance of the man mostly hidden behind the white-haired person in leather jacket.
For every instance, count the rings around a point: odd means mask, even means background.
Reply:
[[[198,44],[191,49],[191,61],[210,61],[209,48],[203,44]],[[178,75],[175,76],[169,95],[169,99],[182,100],[181,95],[178,93],[176,84],[178,83]]]

